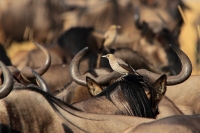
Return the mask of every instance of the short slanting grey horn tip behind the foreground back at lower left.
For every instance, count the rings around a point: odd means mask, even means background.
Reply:
[[[36,82],[40,86],[40,88],[44,92],[49,92],[48,85],[46,84],[46,82],[44,81],[44,79],[42,77],[40,77],[40,75],[38,75],[34,70],[32,70],[32,73],[35,76]]]

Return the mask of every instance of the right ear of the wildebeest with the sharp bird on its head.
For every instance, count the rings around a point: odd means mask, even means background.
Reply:
[[[153,95],[154,95],[154,100],[158,104],[160,100],[162,99],[163,95],[166,92],[166,82],[167,81],[167,76],[164,74],[158,78],[155,83],[153,84],[154,90],[153,90]]]

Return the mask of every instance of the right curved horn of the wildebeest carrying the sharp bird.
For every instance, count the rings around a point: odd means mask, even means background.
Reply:
[[[176,84],[180,84],[182,82],[184,82],[185,80],[187,80],[191,73],[192,73],[192,63],[190,61],[190,59],[188,58],[188,56],[178,47],[171,45],[170,47],[176,52],[176,54],[178,55],[181,64],[182,64],[182,70],[181,72],[176,75],[176,76],[167,76],[167,85],[176,85]],[[147,76],[149,77],[151,80],[155,81],[156,79],[158,79],[161,75],[150,72],[148,70],[145,69],[138,69],[136,70],[140,75],[142,76]]]

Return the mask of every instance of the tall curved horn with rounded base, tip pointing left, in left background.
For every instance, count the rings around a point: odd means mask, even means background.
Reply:
[[[48,50],[45,49],[42,45],[39,45],[36,42],[33,42],[33,43],[42,50],[42,52],[45,54],[45,57],[46,57],[45,63],[40,68],[35,70],[35,72],[38,73],[39,75],[43,75],[48,70],[49,66],[51,65],[51,55],[48,52]],[[21,75],[23,78],[25,78],[24,80],[26,81],[35,77],[32,73],[32,69],[28,66],[25,66],[22,68]]]

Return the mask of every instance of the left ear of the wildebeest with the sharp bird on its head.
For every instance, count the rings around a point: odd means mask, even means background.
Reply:
[[[96,81],[94,81],[88,76],[86,77],[86,83],[87,83],[88,91],[92,96],[98,95],[103,90]]]

